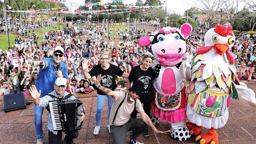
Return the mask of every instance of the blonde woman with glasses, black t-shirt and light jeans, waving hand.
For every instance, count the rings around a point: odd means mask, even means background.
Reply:
[[[101,75],[102,79],[100,84],[112,91],[116,90],[117,84],[115,82],[116,76],[122,76],[128,78],[129,74],[124,73],[120,68],[109,63],[110,56],[107,52],[100,54],[100,64],[92,67],[91,71],[88,71],[88,60],[83,62],[83,72],[84,78],[89,79],[92,76]],[[97,88],[96,88],[97,89]],[[100,131],[100,119],[102,115],[102,110],[106,98],[108,97],[108,119],[110,110],[113,104],[113,99],[97,89],[97,108],[96,108],[96,126],[94,128],[93,134],[98,135]],[[109,130],[109,124],[108,124]]]

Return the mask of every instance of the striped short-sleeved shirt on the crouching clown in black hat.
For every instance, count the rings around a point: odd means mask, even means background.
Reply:
[[[115,119],[115,122],[114,122],[114,125],[116,126],[120,126],[120,125],[124,125],[125,123],[128,122],[133,110],[134,110],[134,101],[129,104],[127,102],[127,97],[125,97],[126,93],[125,92],[115,92],[115,96],[114,96],[114,103],[113,103],[113,106],[111,108],[111,111],[110,111],[110,116],[109,116],[109,124],[112,125],[112,121],[114,119],[114,116],[116,114],[116,109],[117,107],[119,106],[119,104],[124,100],[123,104],[120,106],[118,112],[117,112],[117,115],[116,115],[116,119]],[[125,99],[124,99],[125,97]],[[141,111],[144,111],[143,108],[142,108],[142,105],[140,103],[140,100],[137,99],[136,100],[136,107],[135,109],[138,111],[138,112],[141,112]]]

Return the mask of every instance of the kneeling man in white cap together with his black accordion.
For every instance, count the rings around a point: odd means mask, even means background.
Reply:
[[[35,85],[32,85],[29,89],[31,96],[34,99],[35,106],[46,107],[46,109],[48,110],[47,127],[49,144],[60,144],[62,131],[64,131],[66,134],[64,141],[68,144],[75,144],[73,139],[77,138],[78,130],[81,129],[81,125],[85,117],[84,107],[82,106],[82,103],[79,100],[76,100],[75,96],[65,91],[66,88],[67,80],[63,77],[58,77],[54,84],[54,91],[50,92],[42,98],[40,98],[41,90],[39,90],[38,92]],[[77,116],[75,118],[74,113],[71,112],[72,114],[70,115],[72,115],[73,117],[71,116],[72,118],[70,118],[70,116],[68,115],[68,108],[70,104],[74,101],[78,101],[78,103],[80,104],[80,108],[71,108],[72,110],[76,109]],[[61,103],[64,105],[63,109],[61,109],[61,107],[63,107],[60,106]],[[52,107],[50,107],[50,105]],[[68,106],[65,107],[65,105]],[[66,113],[63,113],[63,111],[65,111]],[[73,124],[73,126],[75,125],[75,128],[72,128],[72,126],[70,125],[66,126],[65,121],[67,121],[66,123],[74,121],[74,123],[76,123],[77,125]]]

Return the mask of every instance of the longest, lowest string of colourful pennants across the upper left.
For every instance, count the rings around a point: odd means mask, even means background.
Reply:
[[[160,7],[160,6],[159,6]],[[52,13],[73,13],[73,14],[82,14],[82,13],[95,13],[95,14],[121,14],[121,13],[128,13],[132,11],[142,11],[142,10],[148,10],[148,9],[157,9],[159,7],[152,7],[152,8],[146,8],[146,9],[141,9],[141,8],[126,8],[126,9],[109,9],[109,10],[90,10],[90,11],[36,11],[36,10],[30,10],[30,11],[13,11],[13,10],[7,10],[6,12],[23,12],[23,13],[29,13],[29,14],[34,14],[34,13],[44,13],[44,14],[52,14]],[[124,10],[125,12],[113,12],[113,11],[118,11],[118,10]]]

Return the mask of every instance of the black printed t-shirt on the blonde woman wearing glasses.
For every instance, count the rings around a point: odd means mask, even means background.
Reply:
[[[101,74],[101,81],[100,81],[101,86],[114,91],[117,87],[117,84],[115,81],[116,76],[122,76],[124,72],[117,66],[114,66],[112,64],[109,64],[109,65],[110,66],[108,69],[103,69],[101,68],[101,64],[98,64],[95,67],[92,67],[92,69],[88,73],[91,76],[96,76],[96,77]],[[98,88],[96,89],[98,94],[105,95]]]

